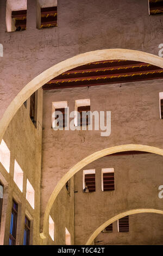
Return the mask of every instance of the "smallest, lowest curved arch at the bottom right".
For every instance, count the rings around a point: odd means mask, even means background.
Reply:
[[[112,218],[110,218],[110,220],[104,222],[100,227],[98,227],[93,234],[90,236],[89,240],[87,240],[86,245],[91,245],[91,243],[93,242],[93,240],[96,238],[96,236],[101,233],[101,231],[106,228],[108,225],[110,225],[111,223],[117,221],[120,218],[123,218],[125,216],[128,215],[132,215],[132,214],[142,214],[142,213],[153,213],[153,214],[163,214],[163,210],[157,210],[157,209],[134,209],[134,210],[129,210],[126,212],[122,212],[121,214],[118,214]]]

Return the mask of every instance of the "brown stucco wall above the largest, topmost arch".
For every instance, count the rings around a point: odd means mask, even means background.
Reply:
[[[0,3],[0,43],[4,46],[0,118],[32,78],[79,53],[128,48],[158,56],[162,16],[149,16],[146,0],[60,0],[58,27],[41,30],[36,29],[36,9],[36,0],[28,0],[27,31],[7,33],[5,0]]]

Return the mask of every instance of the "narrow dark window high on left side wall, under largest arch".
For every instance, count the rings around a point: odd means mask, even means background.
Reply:
[[[37,125],[37,93],[33,93],[30,96],[30,119],[32,120],[33,124]]]

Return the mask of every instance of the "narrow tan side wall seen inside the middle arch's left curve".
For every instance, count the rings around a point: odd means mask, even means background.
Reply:
[[[74,244],[74,178],[70,180],[70,192],[66,186],[56,198],[51,213],[54,221],[54,242],[48,236],[48,245],[65,245],[65,228],[71,234],[71,245]]]

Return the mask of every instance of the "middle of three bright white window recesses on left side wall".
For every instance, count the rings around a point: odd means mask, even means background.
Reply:
[[[16,160],[14,163],[14,181],[20,191],[23,192],[23,171]]]

